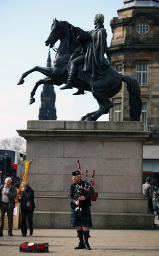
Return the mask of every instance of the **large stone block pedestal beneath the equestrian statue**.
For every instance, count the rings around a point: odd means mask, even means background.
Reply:
[[[96,170],[94,229],[154,228],[142,195],[143,142],[150,133],[141,122],[31,120],[27,130],[17,132],[27,140],[27,160],[32,159],[28,182],[35,190],[35,228],[70,228],[67,190],[77,160],[81,173]]]

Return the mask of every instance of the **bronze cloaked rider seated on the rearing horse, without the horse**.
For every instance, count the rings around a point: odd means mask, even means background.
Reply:
[[[87,71],[92,79],[100,78],[105,74],[109,61],[104,57],[104,54],[107,53],[107,33],[103,23],[104,15],[96,14],[94,19],[95,29],[87,32],[80,28],[72,27],[77,42],[82,42],[81,45],[84,46],[80,46],[72,54],[69,62],[67,82],[65,86],[60,88],[61,90],[73,88],[77,65],[81,63],[84,63],[83,71]],[[108,53],[107,57],[109,58]],[[84,94],[84,91],[78,90],[74,95],[78,94]]]

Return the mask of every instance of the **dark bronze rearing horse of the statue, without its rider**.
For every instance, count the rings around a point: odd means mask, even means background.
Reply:
[[[53,65],[50,68],[36,66],[22,74],[17,84],[24,83],[24,78],[34,71],[38,71],[47,76],[36,82],[31,92],[30,104],[35,102],[35,92],[40,84],[55,84],[61,86],[67,80],[67,66],[71,55],[77,48],[77,42],[72,31],[73,26],[65,21],[54,20],[51,33],[46,41],[46,46],[53,48],[57,40],[60,40]],[[113,103],[109,100],[115,96],[122,88],[122,81],[126,83],[129,93],[129,114],[131,121],[140,121],[142,101],[140,98],[140,87],[136,79],[122,75],[110,66],[106,67],[105,75],[93,80],[89,74],[83,72],[83,64],[78,66],[74,79],[74,88],[92,92],[96,98],[99,109],[81,117],[81,121],[96,121],[103,114],[109,113]]]

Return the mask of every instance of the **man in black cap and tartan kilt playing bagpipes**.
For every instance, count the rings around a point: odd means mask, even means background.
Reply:
[[[85,195],[81,196],[81,192],[78,192],[79,186],[84,188],[85,182],[81,180],[81,175],[78,170],[73,172],[72,175],[74,183],[69,187],[68,193],[68,198],[71,203],[71,227],[77,227],[77,233],[80,241],[79,245],[75,247],[75,249],[90,250],[90,246],[88,244],[89,227],[92,227],[90,197],[94,195],[95,190],[90,186],[90,190],[88,191],[85,189]],[[88,182],[86,182],[86,186],[87,188],[89,187]]]

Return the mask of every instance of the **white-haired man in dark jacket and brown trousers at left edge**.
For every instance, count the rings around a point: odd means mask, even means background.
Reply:
[[[12,179],[8,177],[5,179],[5,185],[0,187],[0,237],[3,236],[6,212],[8,218],[8,236],[13,236],[13,213],[16,196],[17,190],[15,186],[12,185]]]

